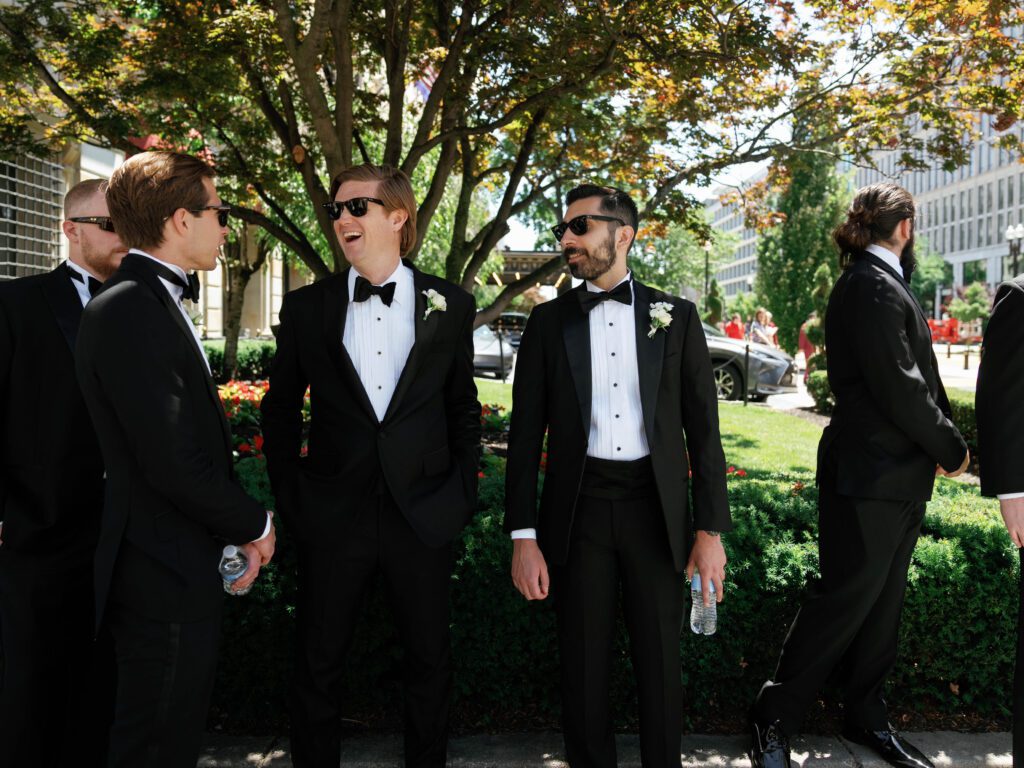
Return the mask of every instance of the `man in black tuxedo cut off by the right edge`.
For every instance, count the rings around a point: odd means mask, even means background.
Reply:
[[[1018,548],[1024,547],[1024,276],[1005,283],[995,294],[978,371],[976,402],[981,493],[998,498],[1010,538]],[[1020,551],[1024,557],[1024,550]],[[1022,631],[1024,588],[1017,614],[1014,765],[1024,765]]]

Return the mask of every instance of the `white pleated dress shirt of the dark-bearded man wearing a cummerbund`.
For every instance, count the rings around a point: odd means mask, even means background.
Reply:
[[[622,285],[631,279],[627,272]],[[586,290],[602,293],[587,281]],[[633,301],[636,292],[630,286]],[[636,307],[608,299],[590,310],[590,432],[587,456],[635,461],[650,455],[640,402]],[[512,539],[537,539],[536,528],[513,530]]]

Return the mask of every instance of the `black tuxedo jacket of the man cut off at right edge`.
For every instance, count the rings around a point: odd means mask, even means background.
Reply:
[[[1024,278],[1005,283],[995,294],[976,413],[981,493],[1024,492]]]

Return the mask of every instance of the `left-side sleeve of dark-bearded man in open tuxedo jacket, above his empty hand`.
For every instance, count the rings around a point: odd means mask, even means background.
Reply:
[[[537,528],[537,480],[548,428],[544,366],[547,307],[534,308],[519,341],[512,383],[512,419],[505,467],[505,530]]]

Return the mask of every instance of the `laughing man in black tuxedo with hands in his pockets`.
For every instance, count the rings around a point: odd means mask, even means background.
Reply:
[[[452,542],[476,507],[473,299],[401,255],[416,200],[401,171],[342,171],[326,207],[350,267],[288,294],[262,403],[263,450],[299,556],[296,768],[336,768],[352,630],[383,577],[404,650],[407,766],[443,766]],[[300,460],[303,395],[312,423]]]

